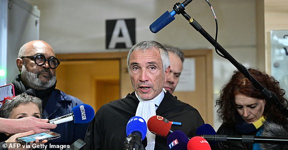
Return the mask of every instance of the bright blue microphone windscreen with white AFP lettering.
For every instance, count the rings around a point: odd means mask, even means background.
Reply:
[[[145,138],[147,134],[147,124],[146,121],[140,116],[131,117],[126,126],[126,135],[127,137],[134,131],[138,131],[141,133],[142,140]]]

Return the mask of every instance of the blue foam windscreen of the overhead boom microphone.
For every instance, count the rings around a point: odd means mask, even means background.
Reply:
[[[156,21],[154,21],[150,26],[150,30],[153,33],[157,33],[159,30],[161,30],[163,27],[165,27],[167,24],[172,22],[175,19],[174,16],[172,16],[169,11],[166,11],[163,13]]]

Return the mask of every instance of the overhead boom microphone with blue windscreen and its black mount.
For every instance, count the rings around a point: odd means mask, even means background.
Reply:
[[[157,33],[159,30],[164,28],[166,25],[168,25],[170,22],[172,22],[175,17],[174,15],[180,14],[181,10],[185,10],[185,6],[187,6],[192,0],[185,0],[183,3],[176,3],[174,4],[173,10],[171,12],[164,12],[157,20],[155,20],[150,26],[150,30],[153,33]]]

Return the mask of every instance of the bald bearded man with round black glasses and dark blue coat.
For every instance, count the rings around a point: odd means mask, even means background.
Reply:
[[[51,45],[43,40],[32,40],[19,50],[16,59],[20,74],[12,81],[16,95],[26,92],[42,100],[43,118],[54,119],[72,112],[72,108],[83,102],[56,89],[56,68],[60,61]],[[88,123],[75,124],[73,121],[58,124],[54,132],[61,137],[53,144],[70,145],[85,137]]]

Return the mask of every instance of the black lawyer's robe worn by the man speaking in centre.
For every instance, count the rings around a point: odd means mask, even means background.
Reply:
[[[104,104],[95,114],[86,132],[84,149],[123,149],[128,120],[135,116],[139,100],[135,92],[126,97]],[[182,130],[188,137],[196,134],[196,129],[204,124],[197,109],[177,99],[169,92],[156,110],[170,121],[182,122],[182,126],[172,126]],[[146,120],[147,121],[147,120]],[[167,138],[156,136],[155,149],[168,149]]]

